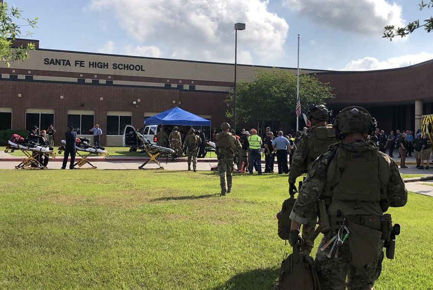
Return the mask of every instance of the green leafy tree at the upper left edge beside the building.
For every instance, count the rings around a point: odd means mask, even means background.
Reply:
[[[3,1],[2,1],[3,2]],[[29,58],[29,50],[35,49],[34,43],[28,43],[26,47],[22,45],[17,48],[12,48],[12,41],[20,37],[28,37],[33,33],[27,31],[21,35],[21,27],[30,26],[36,28],[38,17],[34,19],[21,17],[21,10],[15,7],[9,8],[7,3],[0,2],[0,61],[4,62],[8,67],[9,62],[25,60]],[[25,24],[17,24],[17,21],[22,20]]]

